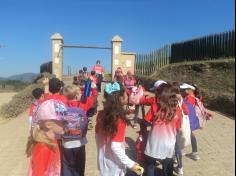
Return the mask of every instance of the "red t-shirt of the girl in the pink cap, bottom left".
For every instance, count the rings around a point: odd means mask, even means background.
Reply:
[[[50,148],[44,143],[37,143],[32,150],[31,176],[60,176],[61,161],[59,147]]]

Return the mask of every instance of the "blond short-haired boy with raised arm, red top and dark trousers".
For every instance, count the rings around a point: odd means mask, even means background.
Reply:
[[[76,86],[66,86],[64,94],[68,98],[68,106],[81,108],[87,112],[94,106],[96,97],[88,97],[85,103],[80,102],[81,93]],[[84,176],[85,171],[85,145],[87,138],[63,139],[62,140],[62,175],[63,176]]]

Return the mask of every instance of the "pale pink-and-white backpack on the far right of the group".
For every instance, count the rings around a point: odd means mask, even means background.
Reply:
[[[203,128],[206,125],[206,121],[208,119],[208,113],[202,101],[198,98],[196,98],[195,100],[196,100],[196,105],[195,105],[196,115],[198,117],[200,127]]]

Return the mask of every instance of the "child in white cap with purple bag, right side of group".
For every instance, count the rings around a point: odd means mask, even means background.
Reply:
[[[200,129],[200,124],[199,124],[198,117],[196,115],[196,111],[194,109],[194,107],[196,106],[196,97],[194,94],[194,91],[196,90],[196,88],[186,83],[182,84],[180,88],[183,90],[184,102],[186,103],[189,110],[192,153],[189,154],[188,157],[197,161],[200,159],[200,157],[198,155],[197,139],[194,134],[194,131]]]

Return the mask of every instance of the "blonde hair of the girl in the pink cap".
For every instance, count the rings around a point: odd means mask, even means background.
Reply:
[[[50,148],[56,147],[56,144],[52,139],[47,135],[47,128],[44,123],[40,123],[39,125],[34,126],[31,129],[31,135],[28,137],[28,141],[26,144],[26,155],[30,157],[32,154],[32,150],[37,143],[44,143],[48,145]]]

